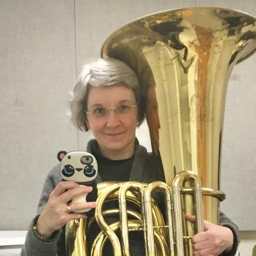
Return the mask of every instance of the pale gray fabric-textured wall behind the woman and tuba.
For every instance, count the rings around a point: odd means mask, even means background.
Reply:
[[[92,134],[66,116],[81,66],[122,24],[172,8],[222,6],[256,16],[255,0],[0,0],[0,230],[22,230],[35,215],[59,150],[83,149]],[[256,230],[256,55],[230,78],[223,135],[221,209]],[[147,127],[138,136],[147,146]]]

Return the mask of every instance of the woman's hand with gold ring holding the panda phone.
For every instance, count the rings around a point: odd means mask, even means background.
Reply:
[[[68,213],[67,203],[74,198],[74,196],[90,193],[92,187],[79,186],[73,181],[60,182],[49,196],[49,200],[39,216],[36,223],[36,230],[45,237],[51,237],[52,233],[59,230],[67,221],[78,218],[86,218],[85,214]],[[84,202],[77,204],[70,204],[72,211],[81,209],[90,209],[96,206],[96,202]]]

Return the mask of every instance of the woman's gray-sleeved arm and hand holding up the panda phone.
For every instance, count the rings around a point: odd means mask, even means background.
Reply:
[[[68,213],[67,202],[74,196],[90,192],[90,187],[80,187],[76,182],[60,182],[54,169],[45,180],[44,189],[38,204],[38,216],[29,226],[21,256],[56,256],[61,227],[69,220],[84,218],[84,214]],[[56,186],[56,188],[54,188]],[[95,207],[95,202],[72,204],[72,211]],[[36,225],[36,232],[33,227]]]

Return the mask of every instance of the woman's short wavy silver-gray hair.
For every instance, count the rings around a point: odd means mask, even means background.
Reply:
[[[71,92],[70,100],[71,120],[81,131],[88,131],[86,125],[87,100],[90,87],[105,87],[124,84],[132,89],[138,102],[139,127],[144,120],[144,111],[140,108],[140,86],[135,72],[124,62],[112,58],[93,61],[83,66],[83,70]]]

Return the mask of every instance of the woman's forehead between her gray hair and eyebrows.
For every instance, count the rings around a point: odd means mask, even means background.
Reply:
[[[127,88],[122,84],[91,87],[88,93],[87,105],[102,104],[104,106],[113,106],[122,100],[135,102],[135,95],[131,88]]]

